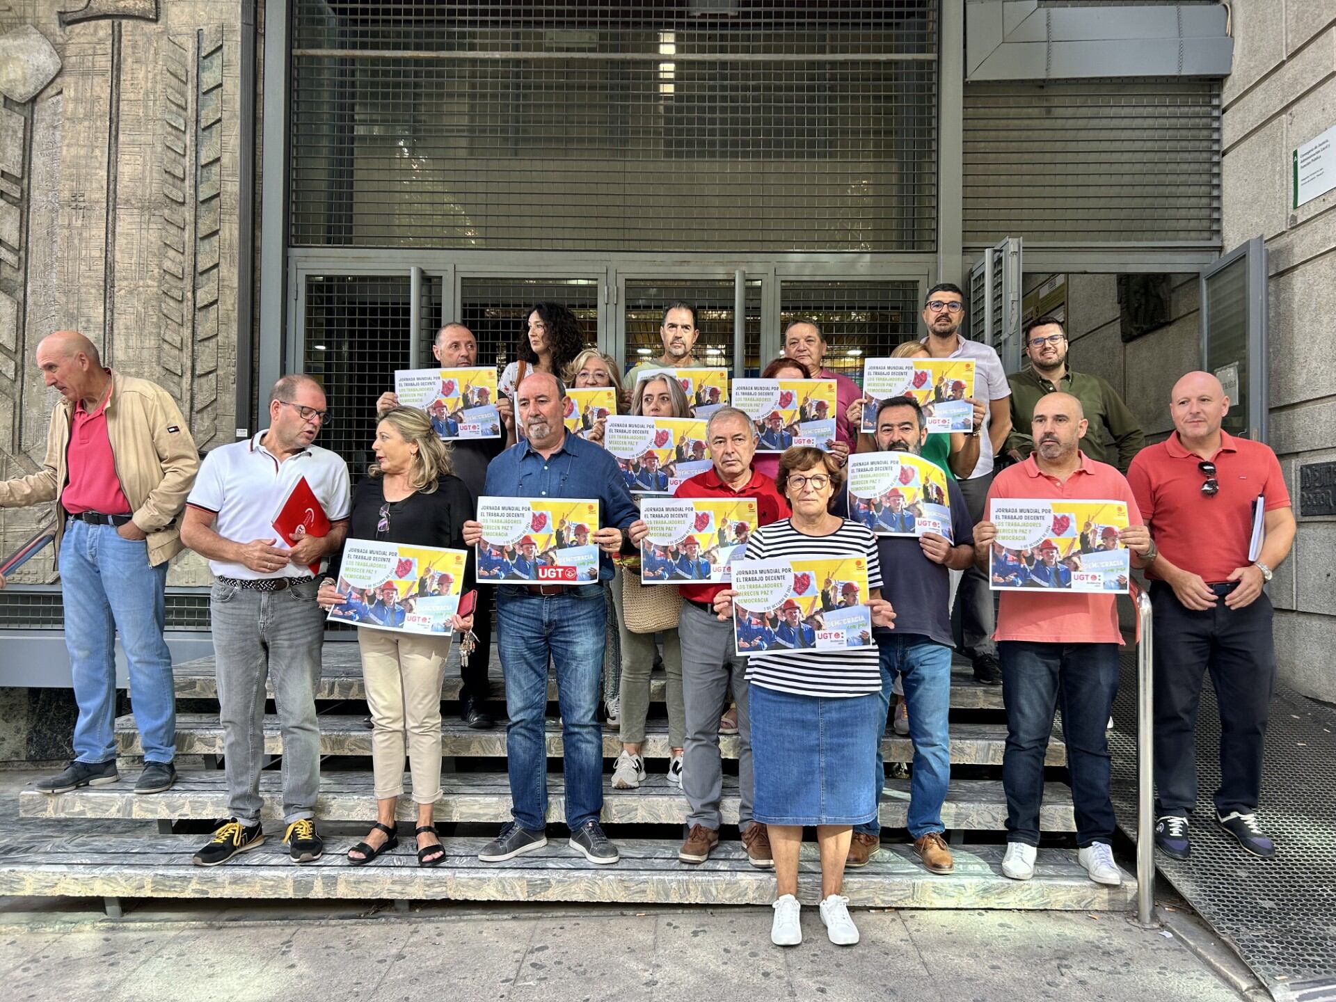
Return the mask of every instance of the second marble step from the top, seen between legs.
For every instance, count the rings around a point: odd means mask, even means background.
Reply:
[[[362,725],[361,716],[321,716],[322,755],[370,755],[371,732]],[[466,758],[505,758],[505,721],[498,721],[492,731],[470,731],[458,719],[446,717],[441,723],[444,735],[442,755]],[[561,755],[561,727],[556,719],[548,719],[548,755]],[[962,766],[1001,766],[1006,744],[1006,724],[951,724],[951,762]],[[277,755],[282,751],[282,737],[278,731],[278,717],[265,716],[265,752]],[[723,736],[719,747],[725,759],[737,758],[737,736]],[[116,751],[120,755],[143,755],[135,719],[130,715],[116,719]],[[222,755],[223,728],[211,713],[176,715],[176,751],[182,755]],[[603,754],[615,759],[621,751],[621,741],[615,731],[604,729]],[[667,759],[668,724],[664,720],[651,720],[645,733],[643,754],[647,759]],[[887,732],[882,739],[882,755],[887,762],[910,762],[914,748],[908,737]],[[1066,764],[1066,745],[1061,731],[1054,729],[1049,741],[1045,764]]]

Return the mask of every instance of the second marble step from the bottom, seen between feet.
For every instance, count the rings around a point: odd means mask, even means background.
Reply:
[[[182,820],[186,818],[212,820],[226,818],[227,782],[218,770],[187,771],[164,794],[136,796],[132,792],[135,774],[122,776],[119,783],[88,787],[69,794],[47,795],[36,790],[19,794],[21,818],[119,818],[142,820]],[[510,820],[510,786],[504,772],[448,772],[441,778],[445,796],[436,804],[436,818],[441,822],[508,822]],[[411,782],[403,779],[405,791]],[[651,774],[639,790],[613,790],[611,776],[604,778],[603,820],[608,824],[680,824],[687,816],[687,802],[681,790],[668,783],[661,774]],[[266,822],[283,816],[282,776],[267,771],[261,776],[261,795],[265,798]],[[565,779],[561,774],[548,776],[548,820],[565,819]],[[321,820],[362,822],[374,811],[374,788],[370,772],[341,772],[326,770],[321,776],[321,799],[315,812]],[[886,796],[880,807],[882,824],[903,828],[910,803],[910,783],[891,779],[886,783]],[[737,778],[724,776],[720,802],[724,824],[737,823]],[[409,822],[417,808],[405,796],[399,799],[399,819]],[[1006,798],[1002,783],[995,779],[955,780],[942,807],[942,822],[947,828],[966,831],[995,831],[1006,827]],[[1039,826],[1045,831],[1075,831],[1071,810],[1071,791],[1063,783],[1046,783]]]

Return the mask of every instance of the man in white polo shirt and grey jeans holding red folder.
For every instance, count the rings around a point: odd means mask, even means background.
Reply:
[[[270,394],[269,429],[210,452],[186,498],[182,541],[207,557],[214,572],[208,608],[231,815],[195,854],[198,866],[216,866],[265,840],[259,771],[266,677],[274,684],[283,735],[283,842],[297,863],[323,852],[315,831],[315,683],[325,612],[315,604],[318,573],[311,565],[323,565],[343,544],[350,506],[347,464],[311,445],[326,417],[321,385],[307,375],[285,375]],[[331,528],[289,546],[274,530],[274,518],[302,478]]]

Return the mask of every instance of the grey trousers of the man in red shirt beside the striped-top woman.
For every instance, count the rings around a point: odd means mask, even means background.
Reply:
[[[751,717],[747,713],[747,659],[733,653],[733,624],[691,603],[681,604],[681,692],[687,711],[687,744],[681,763],[681,792],[691,807],[687,827],[703,824],[717,831],[719,799],[724,784],[719,755],[719,717],[728,705],[728,689],[737,704],[739,827],[752,823]]]

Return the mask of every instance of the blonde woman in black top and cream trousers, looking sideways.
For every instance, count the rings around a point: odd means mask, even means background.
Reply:
[[[452,473],[450,452],[426,411],[394,407],[381,414],[371,449],[375,462],[353,496],[347,538],[468,549],[464,521],[473,517],[469,490]],[[333,573],[317,596],[325,608],[345,601],[335,585],[338,573]],[[468,566],[464,589],[472,584],[473,569]],[[472,629],[473,617],[456,616],[453,625],[456,631]],[[349,850],[347,860],[362,866],[398,846],[395,819],[407,752],[418,864],[437,866],[445,850],[432,814],[441,799],[441,681],[450,639],[362,625],[357,643],[371,711],[377,819],[366,839]]]

